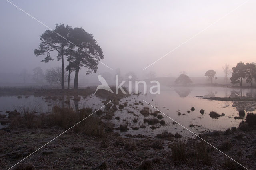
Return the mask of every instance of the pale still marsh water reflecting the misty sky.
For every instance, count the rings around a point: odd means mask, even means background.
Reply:
[[[201,127],[195,126],[190,128],[193,132],[199,133],[203,130],[226,130],[230,127],[238,127],[241,120],[235,120],[234,117],[238,116],[238,111],[245,109],[248,111],[254,111],[256,109],[255,101],[253,102],[232,102],[232,101],[212,101],[201,99],[196,96],[208,96],[208,97],[256,97],[256,89],[231,89],[224,87],[165,87],[162,88],[160,95],[131,95],[128,98],[121,99],[120,103],[128,101],[127,110],[117,111],[115,113],[115,117],[119,116],[120,121],[113,119],[113,122],[118,127],[120,124],[124,123],[124,121],[128,122],[128,127],[130,130],[128,132],[124,132],[123,134],[144,134],[144,135],[155,135],[160,133],[162,130],[168,130],[173,134],[179,132],[180,134],[187,133],[187,131],[183,130],[179,125],[173,124],[172,120],[164,117],[164,120],[168,124],[168,126],[158,126],[156,130],[151,130],[149,127],[140,130],[132,130],[133,127],[139,127],[143,124],[144,116],[139,113],[139,110],[143,107],[147,106],[146,103],[144,105],[138,105],[138,109],[134,105],[135,101],[142,101],[144,99],[151,105],[157,107],[160,111],[170,116],[172,119],[176,120],[180,124],[184,125],[184,127],[189,128],[190,124],[200,125]],[[75,102],[70,98],[70,105],[64,104],[65,107],[75,108],[78,105],[79,108],[82,107],[93,107],[98,109],[102,106],[102,99],[95,97],[94,95],[88,96],[85,99],[81,97],[80,101]],[[67,97],[65,97],[65,101]],[[153,101],[152,101],[153,100]],[[18,99],[17,97],[0,97],[0,111],[4,113],[9,110],[12,111],[19,106],[30,105],[36,106],[38,111],[40,112],[49,112],[54,105],[62,106],[62,101],[57,99],[56,101],[47,100],[42,97],[34,97],[30,96],[28,98]],[[132,104],[132,106],[129,106]],[[51,106],[48,106],[51,105]],[[191,107],[195,107],[194,112],[187,113]],[[152,107],[148,106],[153,110]],[[200,114],[200,109],[204,109],[204,115]],[[181,114],[178,115],[177,111],[180,110]],[[127,113],[127,111],[134,111],[135,116],[131,113]],[[220,117],[219,119],[212,119],[209,116],[210,111],[216,111],[219,114],[224,113],[225,116]],[[231,117],[231,118],[229,118]],[[132,120],[134,118],[138,119],[137,123],[133,123]]]

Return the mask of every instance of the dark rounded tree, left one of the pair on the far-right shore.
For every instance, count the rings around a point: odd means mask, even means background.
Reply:
[[[236,67],[232,68],[231,73],[231,83],[236,84],[239,83],[242,86],[243,78],[246,77],[246,65],[243,62],[237,63]]]

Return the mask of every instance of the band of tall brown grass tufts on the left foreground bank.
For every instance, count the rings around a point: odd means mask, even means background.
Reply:
[[[49,114],[36,114],[35,107],[21,107],[20,111],[20,114],[12,117],[11,128],[50,128],[58,126],[66,130],[81,121],[72,129],[74,132],[82,132],[88,136],[103,136],[104,126],[102,121],[94,115],[89,116],[92,113],[91,108],[83,108],[75,112],[73,109],[54,106]]]

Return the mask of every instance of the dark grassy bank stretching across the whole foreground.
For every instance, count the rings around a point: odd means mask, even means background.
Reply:
[[[143,134],[120,137],[114,130],[114,124],[106,119],[113,117],[116,110],[116,105],[106,105],[104,111],[97,111],[16,168],[242,169],[198,138],[180,138],[178,133],[166,131],[154,137]],[[10,126],[0,130],[1,169],[9,168],[93,112],[90,108],[73,111],[60,107],[54,107],[51,113],[43,115],[26,108],[9,112]],[[162,119],[159,112],[152,113],[148,107],[144,107],[141,114],[153,116],[145,118],[149,125]],[[127,125],[120,125],[118,129],[125,131]],[[248,113],[246,121],[242,121],[238,128],[202,133],[200,137],[247,168],[256,168],[255,114]]]

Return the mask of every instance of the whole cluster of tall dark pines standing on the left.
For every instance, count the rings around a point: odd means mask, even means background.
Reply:
[[[58,33],[58,34],[56,34]],[[57,51],[57,60],[62,62],[62,89],[65,89],[65,69],[68,71],[68,89],[70,88],[70,74],[75,72],[74,89],[78,89],[79,70],[87,69],[86,74],[96,73],[100,59],[103,59],[102,48],[92,34],[87,33],[84,28],[64,26],[56,24],[54,30],[46,30],[40,36],[41,43],[38,49],[34,49],[36,56],[46,55],[42,62],[48,63],[54,60],[52,51]],[[69,43],[68,41],[72,42]],[[64,66],[64,59],[68,61]]]

